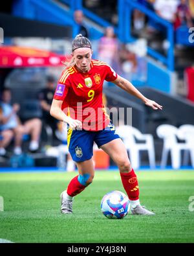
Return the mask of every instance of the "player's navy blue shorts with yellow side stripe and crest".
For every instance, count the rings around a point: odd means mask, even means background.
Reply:
[[[89,160],[93,156],[94,142],[100,146],[113,141],[113,139],[120,138],[115,134],[113,124],[109,124],[104,130],[98,132],[90,132],[85,130],[72,130],[69,128],[67,141],[69,145],[69,152],[72,159],[76,162]]]

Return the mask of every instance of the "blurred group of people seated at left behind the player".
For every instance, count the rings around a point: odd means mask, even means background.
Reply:
[[[41,135],[47,128],[50,128],[52,140],[67,139],[64,125],[50,115],[56,82],[54,76],[47,76],[46,86],[40,89],[36,99],[29,100],[25,109],[22,110],[23,112],[30,110],[30,115],[20,115],[23,100],[14,102],[12,90],[8,87],[3,88],[0,99],[0,156],[6,156],[6,148],[10,145],[13,146],[15,155],[22,154],[25,141],[28,141],[28,152],[38,152]],[[34,108],[35,105],[39,111]]]

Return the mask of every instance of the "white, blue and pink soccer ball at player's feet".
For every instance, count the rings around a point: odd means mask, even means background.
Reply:
[[[129,208],[129,198],[120,191],[108,192],[101,201],[102,213],[107,218],[124,218]]]

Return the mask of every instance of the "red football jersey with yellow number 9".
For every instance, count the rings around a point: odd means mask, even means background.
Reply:
[[[110,122],[102,102],[103,81],[114,81],[115,71],[105,62],[91,61],[91,69],[81,73],[76,65],[63,71],[54,99],[63,100],[61,109],[82,122],[84,130],[98,131]]]

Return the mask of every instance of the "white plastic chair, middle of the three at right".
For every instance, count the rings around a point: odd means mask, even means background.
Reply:
[[[181,164],[181,150],[188,150],[188,143],[179,143],[178,139],[184,139],[184,136],[177,127],[171,124],[161,124],[156,128],[158,137],[164,140],[162,149],[161,168],[166,167],[167,156],[171,154],[171,165],[173,169],[179,169]]]

